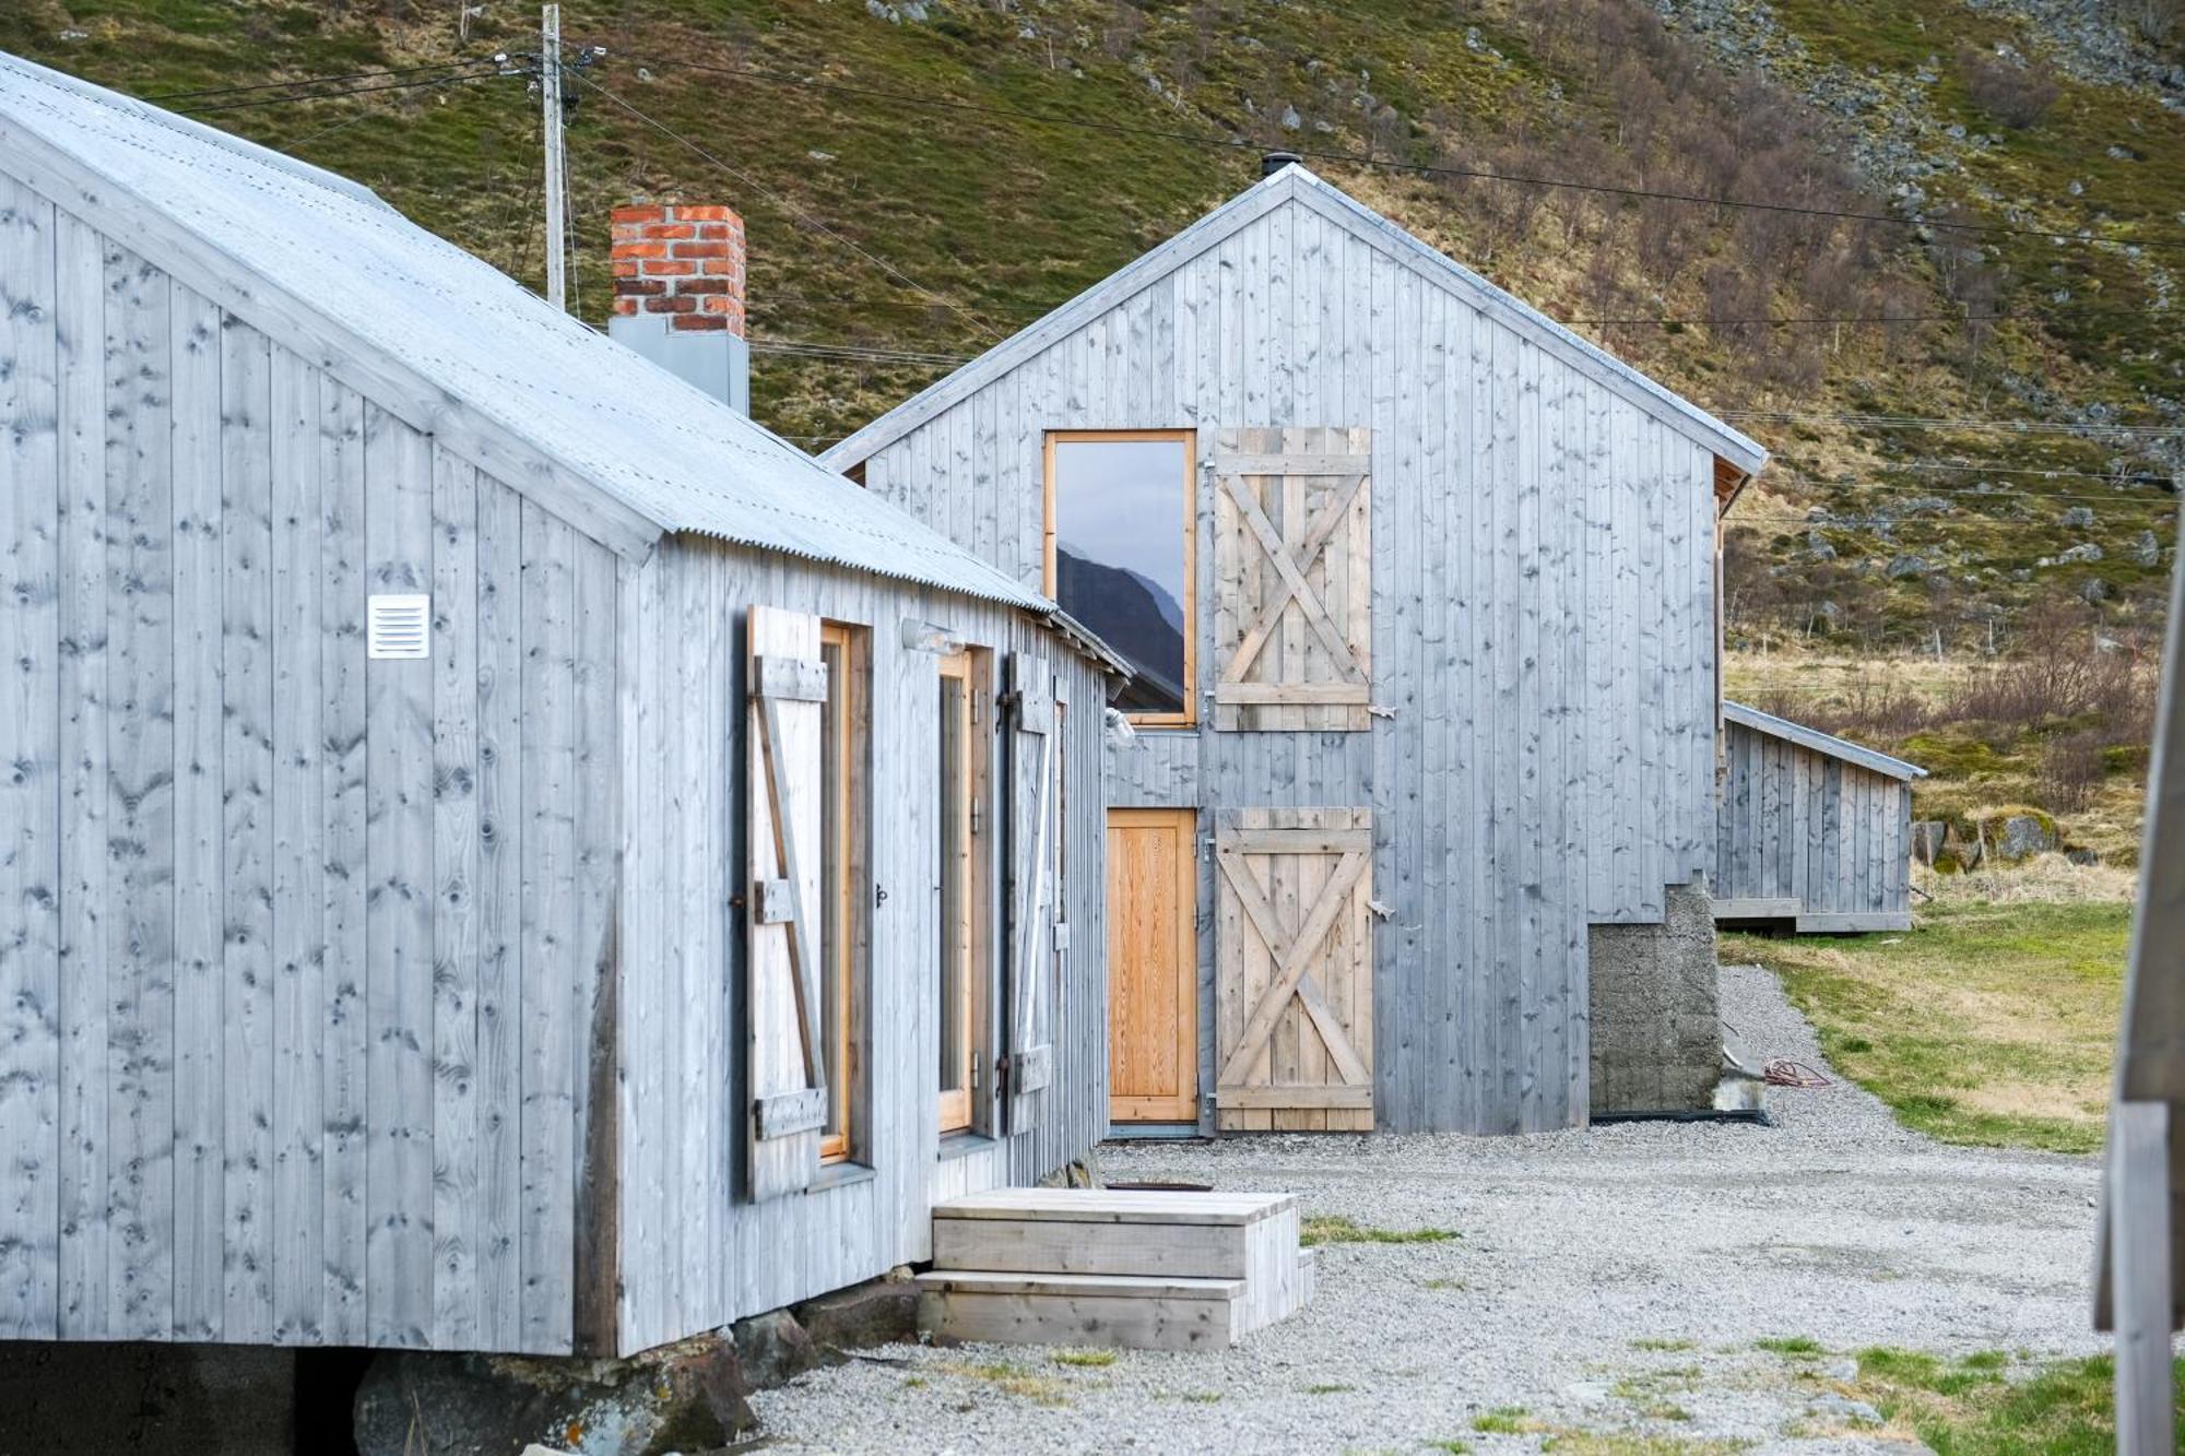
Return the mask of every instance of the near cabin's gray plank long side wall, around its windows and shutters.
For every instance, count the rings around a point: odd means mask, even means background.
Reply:
[[[671,540],[642,566],[625,564],[621,597],[621,619],[631,623],[621,713],[636,752],[623,789],[631,813],[621,901],[616,1342],[636,1351],[926,1257],[937,1194],[957,1183],[983,1189],[1012,1176],[1031,1181],[1101,1137],[1103,686],[1090,665],[1014,610],[710,540]],[[745,938],[730,903],[745,892],[747,864],[743,662],[752,606],[870,627],[872,750],[863,791],[872,881],[885,892],[872,907],[861,968],[861,1021],[872,1032],[850,1163],[824,1167],[806,1194],[765,1202],[743,1189]],[[1062,962],[1053,1003],[1055,1082],[1038,1128],[1012,1132],[988,1104],[979,1126],[999,1137],[955,1139],[946,1150],[935,1093],[937,662],[905,647],[905,621],[992,649],[996,669],[1009,651],[1034,651],[1055,662],[1071,686],[1062,903],[1077,949]],[[988,704],[979,730],[992,735],[996,717]],[[999,824],[999,813],[990,802],[981,822]],[[994,846],[988,833],[988,855]],[[999,953],[999,896],[990,944]]]

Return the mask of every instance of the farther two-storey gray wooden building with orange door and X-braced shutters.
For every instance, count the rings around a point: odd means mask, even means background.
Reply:
[[[1591,929],[1715,864],[1755,442],[1280,166],[824,459],[1134,669],[1119,1130],[1586,1119]]]

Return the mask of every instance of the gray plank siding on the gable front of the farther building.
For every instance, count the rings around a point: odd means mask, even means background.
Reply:
[[[1706,446],[1283,201],[876,453],[865,483],[1038,584],[1047,431],[1193,426],[1204,457],[1217,428],[1287,424],[1372,428],[1372,680],[1392,717],[1147,730],[1114,754],[1112,802],[1370,807],[1381,1124],[1582,1122],[1586,923],[1658,920],[1663,885],[1713,866]],[[1202,676],[1208,490],[1202,472]],[[1208,881],[1202,942],[1210,903]]]

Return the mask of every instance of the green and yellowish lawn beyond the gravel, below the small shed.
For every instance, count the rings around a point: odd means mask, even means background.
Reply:
[[[1903,936],[1724,936],[1820,1028],[1838,1071],[1949,1143],[2095,1152],[2130,905],[1940,903]]]

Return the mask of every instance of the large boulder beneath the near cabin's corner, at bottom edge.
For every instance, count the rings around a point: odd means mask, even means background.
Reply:
[[[380,1353],[356,1390],[361,1456],[640,1456],[754,1430],[736,1345],[697,1336],[631,1360]]]

